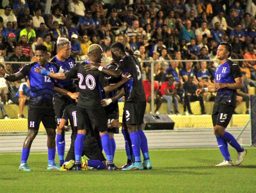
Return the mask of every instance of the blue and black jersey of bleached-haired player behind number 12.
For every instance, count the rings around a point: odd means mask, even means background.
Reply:
[[[67,59],[66,61],[60,61],[57,59],[56,56],[54,56],[50,60],[50,62],[56,63],[60,68],[62,68],[66,72],[69,71],[71,68],[73,68],[76,65],[75,59],[72,56],[69,59]],[[58,87],[60,87],[62,89],[65,89],[72,93],[76,92],[75,82],[73,79],[71,79],[71,80],[56,80],[56,83],[57,83]],[[71,100],[71,98],[69,96],[62,95],[56,91],[54,92],[54,99]]]

